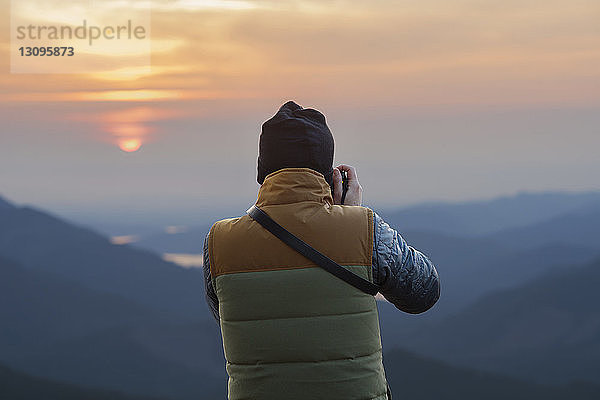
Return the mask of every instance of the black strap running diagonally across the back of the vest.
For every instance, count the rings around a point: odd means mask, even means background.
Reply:
[[[261,224],[266,230],[278,237],[283,243],[287,244],[292,249],[296,250],[298,253],[302,254],[304,257],[323,268],[325,271],[337,276],[341,280],[346,281],[355,288],[372,296],[375,296],[379,291],[377,285],[369,282],[366,279],[363,279],[352,271],[342,267],[331,258],[318,252],[309,244],[302,241],[297,236],[294,236],[283,226],[275,222],[267,213],[258,208],[256,205],[250,207],[246,212],[250,217],[252,217],[253,220]]]

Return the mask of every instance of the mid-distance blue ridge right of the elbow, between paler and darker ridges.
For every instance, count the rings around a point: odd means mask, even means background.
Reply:
[[[436,264],[441,277],[443,301],[427,318],[446,316],[480,296],[522,285],[557,267],[594,259],[600,254],[600,205],[593,203],[595,198],[575,196],[587,205],[483,237],[404,232],[407,242]],[[392,226],[400,228],[398,224]]]

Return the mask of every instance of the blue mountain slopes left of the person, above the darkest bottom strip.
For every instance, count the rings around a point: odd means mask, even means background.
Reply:
[[[28,207],[0,209],[0,256],[22,264],[0,260],[9,365],[128,393],[222,397],[223,350],[200,271]]]

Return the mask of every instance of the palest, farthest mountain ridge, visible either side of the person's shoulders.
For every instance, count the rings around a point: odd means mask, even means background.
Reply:
[[[487,201],[422,204],[399,210],[376,207],[375,211],[401,233],[472,237],[525,227],[594,205],[600,206],[600,192],[520,193]],[[243,214],[243,210],[239,213]],[[201,253],[202,244],[198,243],[198,238],[203,238],[212,223],[221,217],[215,215],[205,224],[190,227],[186,232],[141,235],[136,246],[159,253]]]

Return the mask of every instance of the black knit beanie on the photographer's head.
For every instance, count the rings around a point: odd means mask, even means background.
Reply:
[[[288,101],[262,126],[258,183],[262,185],[267,175],[282,168],[311,168],[322,173],[331,186],[333,150],[325,116]]]

